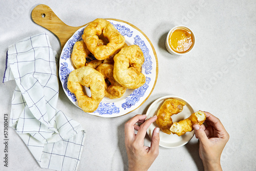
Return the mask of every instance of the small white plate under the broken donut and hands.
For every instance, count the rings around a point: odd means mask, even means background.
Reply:
[[[184,101],[186,103],[186,105],[183,107],[183,110],[181,113],[172,116],[173,122],[178,122],[180,120],[186,119],[191,114],[193,114],[195,112],[195,110],[193,109],[193,107],[187,100],[185,100],[181,97],[178,97],[178,96],[164,96],[164,97],[161,97],[161,98],[155,100],[150,105],[150,107],[147,109],[147,112],[146,112],[147,118],[151,118],[154,115],[157,115],[157,112],[158,112],[160,106],[163,104],[164,100],[167,98],[176,98],[176,99]],[[148,134],[148,136],[150,136],[150,138],[152,138],[152,133],[153,133],[153,130],[155,129],[155,127],[159,127],[156,122],[152,123],[150,125],[150,127],[148,127],[148,129],[147,129],[147,134]],[[185,145],[194,136],[194,134],[195,133],[193,130],[193,131],[187,132],[186,134],[179,137],[176,134],[168,135],[160,130],[159,145],[162,147],[165,147],[165,148],[180,147],[182,145]]]

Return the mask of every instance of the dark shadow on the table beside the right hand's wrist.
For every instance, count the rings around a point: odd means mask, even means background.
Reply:
[[[198,151],[198,148],[199,148],[199,144],[198,142],[191,142],[189,141],[186,145],[185,145],[188,153],[190,154],[190,156],[194,159],[196,165],[197,165],[197,168],[198,170],[204,170],[204,166],[203,166],[203,163],[202,163],[202,160],[199,156],[199,151]]]

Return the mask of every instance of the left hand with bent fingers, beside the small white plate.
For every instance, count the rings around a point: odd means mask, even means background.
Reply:
[[[151,147],[144,146],[146,130],[151,123],[155,122],[157,116],[145,121],[145,115],[136,115],[125,123],[125,147],[129,160],[129,170],[147,170],[159,153],[159,127],[152,134]],[[136,123],[142,123],[140,126]],[[137,130],[135,134],[134,130]]]

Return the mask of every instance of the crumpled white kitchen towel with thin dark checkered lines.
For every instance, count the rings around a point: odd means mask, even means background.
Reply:
[[[76,170],[85,132],[56,109],[59,85],[56,52],[41,33],[11,45],[4,80],[15,79],[10,126],[42,168]]]

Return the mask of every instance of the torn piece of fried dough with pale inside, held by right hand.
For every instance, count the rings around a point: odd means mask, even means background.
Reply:
[[[177,134],[178,136],[184,135],[186,132],[193,131],[193,124],[203,124],[206,119],[206,115],[202,111],[191,114],[188,118],[179,122],[174,122],[170,127],[170,132]]]

